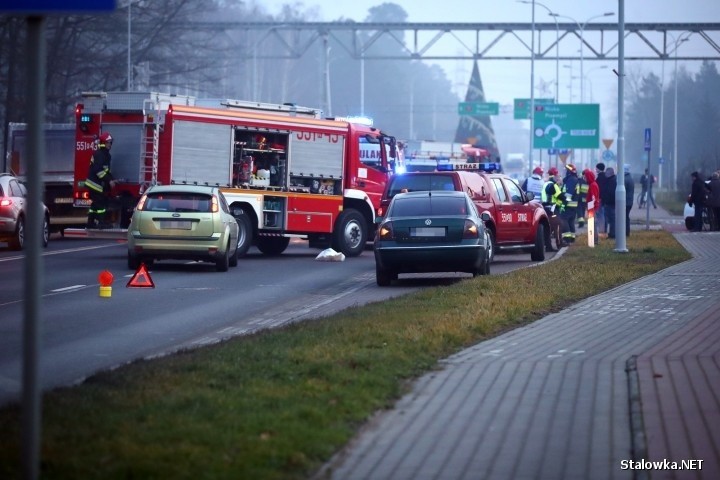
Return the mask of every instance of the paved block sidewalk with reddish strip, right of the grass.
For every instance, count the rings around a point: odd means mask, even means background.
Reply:
[[[720,478],[720,234],[653,217],[694,259],[444,360],[317,478]]]

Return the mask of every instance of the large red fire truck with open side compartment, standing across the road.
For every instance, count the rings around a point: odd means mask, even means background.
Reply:
[[[120,180],[113,220],[121,229],[148,186],[197,182],[223,187],[245,232],[241,255],[253,243],[265,254],[282,253],[293,236],[346,256],[363,251],[393,171],[394,137],[292,104],[199,103],[151,92],[83,94],[75,112],[74,205],[90,204],[82,182],[96,138],[107,131]],[[361,155],[368,148],[377,155]]]

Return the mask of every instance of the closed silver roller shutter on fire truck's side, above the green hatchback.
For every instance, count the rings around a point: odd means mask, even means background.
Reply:
[[[175,120],[170,179],[230,185],[232,131],[229,125]]]

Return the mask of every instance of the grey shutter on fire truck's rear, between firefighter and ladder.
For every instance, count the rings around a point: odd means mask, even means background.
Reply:
[[[142,183],[143,128],[141,123],[105,123],[103,131],[113,136],[110,171],[116,179]]]

